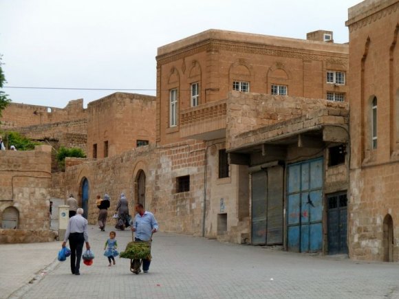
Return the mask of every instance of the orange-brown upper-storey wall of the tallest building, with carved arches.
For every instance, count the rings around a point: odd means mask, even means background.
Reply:
[[[289,96],[327,98],[347,93],[347,85],[326,82],[327,71],[343,71],[348,46],[294,38],[207,30],[158,48],[157,141],[180,140],[180,115],[191,106],[191,84],[199,84],[199,104],[223,100],[233,82],[248,82],[249,91],[271,93],[287,87]],[[169,125],[171,89],[177,90],[177,125]]]

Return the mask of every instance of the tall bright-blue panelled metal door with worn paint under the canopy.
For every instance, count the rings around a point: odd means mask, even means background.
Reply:
[[[288,166],[288,250],[317,252],[323,241],[323,158]]]

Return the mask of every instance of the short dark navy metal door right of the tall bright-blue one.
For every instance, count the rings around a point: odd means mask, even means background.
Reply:
[[[337,193],[327,196],[328,253],[347,254],[347,195]]]

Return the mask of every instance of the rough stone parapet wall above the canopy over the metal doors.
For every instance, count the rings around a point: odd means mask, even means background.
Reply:
[[[319,123],[346,126],[347,107],[347,102],[233,91],[227,100],[227,148],[255,142],[259,137],[299,132]],[[252,132],[257,129],[259,132]]]

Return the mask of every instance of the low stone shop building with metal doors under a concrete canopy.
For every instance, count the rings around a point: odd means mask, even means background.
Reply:
[[[249,175],[251,243],[346,253],[348,103],[250,93],[228,100],[226,148]]]

